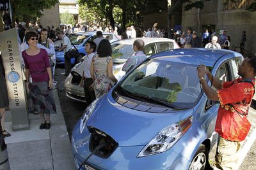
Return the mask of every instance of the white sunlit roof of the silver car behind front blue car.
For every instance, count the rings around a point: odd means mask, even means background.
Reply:
[[[154,42],[166,42],[166,41],[174,42],[174,40],[170,38],[130,38],[130,39],[120,39],[118,41],[113,42],[112,44],[118,43],[118,44],[132,45],[136,39],[143,40],[145,45],[147,45],[148,43],[154,43]]]

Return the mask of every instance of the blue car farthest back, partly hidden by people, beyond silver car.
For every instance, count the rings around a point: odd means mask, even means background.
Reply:
[[[103,32],[103,37],[108,38],[110,43],[118,40],[118,38],[116,37],[115,34],[109,33],[109,32]],[[80,58],[80,57],[83,57],[84,55],[86,55],[86,52],[84,51],[84,46],[86,45],[86,42],[93,41],[93,39],[97,38],[97,36],[96,36],[96,32],[79,32],[77,34],[68,35],[68,38],[76,46],[77,50],[79,51],[79,54],[80,54],[79,58]],[[60,41],[58,41],[58,45],[59,44],[60,44]],[[55,45],[55,43],[54,43],[54,45]],[[65,61],[64,60],[64,52],[56,51],[56,64],[64,65],[64,61]],[[71,64],[74,64],[74,62],[75,62],[75,59],[72,58]]]

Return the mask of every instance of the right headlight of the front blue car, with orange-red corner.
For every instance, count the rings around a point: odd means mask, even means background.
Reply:
[[[169,150],[192,125],[192,116],[162,129],[138,154],[145,157]]]

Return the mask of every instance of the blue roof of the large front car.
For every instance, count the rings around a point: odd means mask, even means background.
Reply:
[[[237,52],[230,50],[212,50],[209,48],[178,48],[160,52],[152,55],[150,59],[166,60],[172,62],[182,62],[186,64],[205,64],[205,66],[214,66],[214,64],[224,55],[230,57],[241,56]]]

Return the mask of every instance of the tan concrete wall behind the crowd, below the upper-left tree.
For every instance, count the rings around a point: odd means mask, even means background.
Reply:
[[[57,3],[50,10],[44,10],[44,15],[40,18],[40,23],[43,27],[46,26],[60,26],[60,11],[59,11],[59,3]]]

